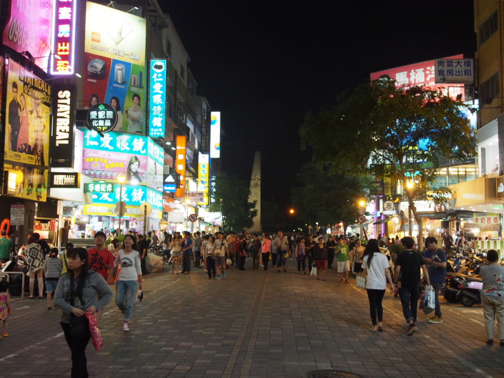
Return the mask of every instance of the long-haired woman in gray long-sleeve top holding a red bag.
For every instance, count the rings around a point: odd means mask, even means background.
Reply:
[[[72,378],[87,378],[85,352],[91,334],[84,313],[94,314],[102,309],[112,300],[113,293],[100,274],[89,270],[86,249],[79,247],[69,251],[68,268],[69,271],[59,278],[54,294],[54,306],[63,312],[60,324],[72,352]]]

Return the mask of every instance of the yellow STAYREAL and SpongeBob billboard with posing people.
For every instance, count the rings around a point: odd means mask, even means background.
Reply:
[[[15,197],[45,201],[51,87],[12,60],[6,72],[6,170],[18,172]]]

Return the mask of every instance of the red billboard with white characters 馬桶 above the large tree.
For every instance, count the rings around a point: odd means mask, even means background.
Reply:
[[[464,55],[448,56],[444,59],[463,59]],[[370,74],[371,81],[380,79],[387,75],[397,82],[398,87],[426,86],[431,89],[441,89],[443,93],[450,94],[451,98],[456,98],[459,94],[464,98],[464,85],[445,85],[435,83],[435,63],[434,59],[415,63],[413,65],[392,68]],[[450,88],[449,90],[447,89]]]

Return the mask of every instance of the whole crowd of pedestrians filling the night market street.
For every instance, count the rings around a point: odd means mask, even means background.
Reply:
[[[299,275],[308,273],[321,281],[326,281],[327,269],[336,269],[342,284],[349,283],[349,273],[352,272],[357,286],[366,290],[372,332],[384,331],[382,300],[388,282],[390,292],[400,297],[408,336],[417,331],[423,273],[425,288],[432,289],[435,294],[434,316],[428,318],[428,322],[443,322],[439,293],[446,280],[447,255],[437,246],[434,237],[425,238],[426,249],[420,254],[415,249],[416,241],[408,236],[393,239],[379,235],[376,239],[365,240],[359,234],[335,237],[322,232],[302,235],[278,231],[270,235],[185,231],[165,232],[160,240],[155,231],[146,235],[133,231],[123,235],[120,230],[107,233],[108,240],[104,231],[95,232],[93,248],[74,247],[68,243],[62,254],[57,248],[50,248],[38,233],[33,233],[19,250],[28,269],[28,298],[35,298],[35,279],[38,295],[42,298],[43,275],[47,309],[52,309],[51,296],[54,293],[54,306],[62,310],[60,323],[72,354],[72,377],[88,376],[85,350],[91,333],[87,317],[94,317],[99,325],[103,308],[114,296],[122,313],[122,330],[130,330],[134,301],[143,296],[142,282],[148,273],[146,260],[154,251],[164,255],[164,262],[171,265],[169,273],[188,275],[194,273],[193,269],[199,269],[206,272],[210,280],[224,279],[230,271],[246,270],[245,262],[249,260],[251,268],[248,269],[281,274],[294,270]],[[10,240],[5,238],[2,233],[2,264],[9,261],[5,256],[9,257],[13,248]],[[488,251],[487,265],[481,267],[481,277],[487,344],[493,344],[496,319],[497,339],[500,346],[504,346],[504,267],[498,264],[495,250]],[[115,294],[109,286],[114,283]],[[0,319],[4,324],[4,337],[9,336],[7,320],[11,313],[8,287],[6,280],[0,282]]]

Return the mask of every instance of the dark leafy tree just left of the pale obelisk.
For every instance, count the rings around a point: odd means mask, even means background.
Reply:
[[[215,192],[209,210],[222,214],[222,227],[226,232],[240,232],[254,224],[257,215],[256,201],[248,202],[248,183],[238,176],[219,172],[215,180]]]

